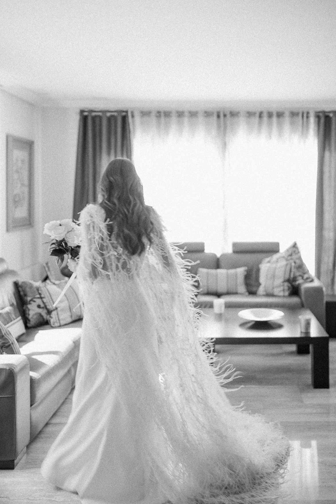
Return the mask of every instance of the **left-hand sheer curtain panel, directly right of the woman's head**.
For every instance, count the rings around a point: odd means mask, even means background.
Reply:
[[[226,243],[223,150],[216,112],[134,110],[133,156],[145,201],[161,215],[170,241]]]

